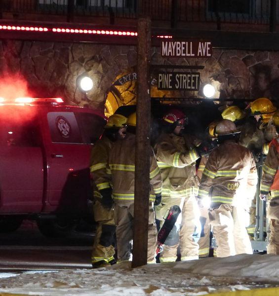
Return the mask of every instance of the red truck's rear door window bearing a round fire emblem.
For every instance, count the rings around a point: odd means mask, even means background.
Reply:
[[[47,113],[53,143],[82,144],[80,128],[73,112]]]

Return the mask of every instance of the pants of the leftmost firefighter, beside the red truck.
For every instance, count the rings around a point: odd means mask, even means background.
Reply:
[[[115,255],[114,245],[116,226],[113,217],[113,211],[105,209],[101,202],[98,199],[95,199],[93,204],[93,212],[97,225],[91,259],[92,262],[101,260],[108,262],[113,259]]]

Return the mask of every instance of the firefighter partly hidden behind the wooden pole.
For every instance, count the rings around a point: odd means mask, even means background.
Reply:
[[[117,225],[118,261],[131,260],[134,215],[135,132],[136,113],[132,113],[127,120],[126,138],[114,144],[109,158],[113,185],[114,217]],[[154,204],[159,204],[161,200],[162,179],[151,146],[150,184],[144,186],[150,187],[147,259],[149,263],[155,263],[157,227]]]

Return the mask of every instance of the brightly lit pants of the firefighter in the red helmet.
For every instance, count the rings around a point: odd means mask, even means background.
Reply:
[[[183,203],[182,205],[181,202]],[[199,259],[199,207],[196,197],[186,197],[183,202],[182,198],[162,197],[163,206],[156,209],[156,218],[162,220],[162,216],[173,205],[179,205],[182,208],[181,215],[177,222],[180,224],[179,244],[163,245],[163,251],[160,253],[160,262],[175,261],[177,256],[177,248],[180,246],[181,260]],[[157,208],[157,207],[156,207]],[[161,224],[163,221],[161,221]]]

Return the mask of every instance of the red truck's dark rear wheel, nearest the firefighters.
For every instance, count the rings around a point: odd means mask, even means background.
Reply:
[[[67,218],[57,217],[56,219],[37,220],[38,228],[46,237],[67,237],[76,226],[76,222]]]

